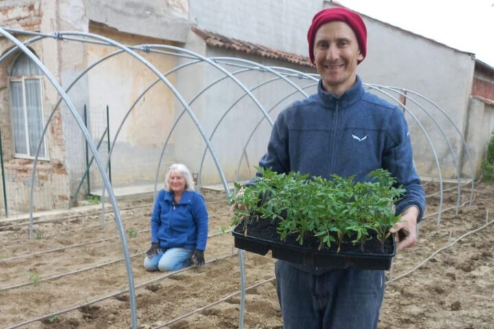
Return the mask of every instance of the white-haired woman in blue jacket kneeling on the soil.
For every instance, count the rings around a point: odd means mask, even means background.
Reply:
[[[154,202],[151,217],[151,248],[144,260],[147,271],[176,271],[204,265],[208,213],[204,197],[194,191],[194,182],[184,164],[172,164],[165,189]]]

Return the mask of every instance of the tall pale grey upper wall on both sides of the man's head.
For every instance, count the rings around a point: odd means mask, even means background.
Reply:
[[[300,1],[276,4],[235,1],[233,4],[218,0],[211,5],[211,1],[193,0],[191,20],[200,29],[307,56],[307,28],[311,18],[318,10],[331,6],[330,1],[308,1],[302,5]],[[222,8],[221,13],[215,14],[215,8]],[[296,19],[290,16],[294,12]],[[255,21],[248,21],[252,17]],[[375,19],[364,16],[364,21],[368,29],[368,51],[357,73],[369,84],[413,90],[443,109],[446,115],[429,101],[408,95],[407,119],[417,170],[425,177],[437,177],[436,162],[439,162],[444,178],[456,177],[456,167],[464,152],[456,128],[461,134],[467,129],[474,58],[470,53]],[[396,103],[383,93],[377,95]],[[397,94],[394,97],[399,99]]]

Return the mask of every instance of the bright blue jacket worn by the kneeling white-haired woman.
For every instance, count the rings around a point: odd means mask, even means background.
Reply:
[[[171,192],[161,190],[151,216],[151,242],[169,249],[206,249],[208,213],[204,197],[196,191],[184,191],[180,202]]]

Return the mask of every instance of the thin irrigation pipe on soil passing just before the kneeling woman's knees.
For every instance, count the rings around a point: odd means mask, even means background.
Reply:
[[[223,259],[226,259],[226,258],[230,258],[232,256],[237,256],[237,254],[228,254],[228,255],[225,255],[225,256],[221,256],[221,257],[215,258],[213,260],[207,261],[206,264],[215,263],[218,260],[223,260]],[[193,268],[195,268],[195,266],[184,267],[183,269],[179,269],[178,271],[169,272],[169,273],[167,273],[167,274],[165,274],[163,276],[158,276],[158,278],[154,278],[152,280],[145,281],[145,282],[143,282],[141,284],[136,284],[134,288],[135,289],[138,289],[138,288],[144,287],[147,284],[150,284],[150,283],[153,283],[153,282],[162,280],[164,278],[167,278],[168,276],[174,276],[175,274],[178,274],[178,273],[181,273],[181,272],[184,272],[184,271],[188,271],[189,269],[193,269]],[[4,328],[4,329],[21,328],[23,326],[26,326],[27,324],[32,324],[33,322],[36,322],[36,321],[41,321],[43,319],[48,319],[50,317],[55,317],[57,315],[68,313],[68,312],[70,312],[72,310],[77,310],[78,308],[81,308],[81,307],[84,307],[84,306],[89,306],[89,305],[92,305],[92,304],[96,304],[97,302],[102,302],[104,300],[108,300],[111,297],[117,297],[118,295],[121,295],[122,293],[128,293],[128,291],[129,291],[129,289],[124,289],[124,290],[121,290],[121,291],[117,291],[116,293],[111,293],[110,295],[99,297],[99,298],[97,298],[95,300],[91,300],[90,302],[86,302],[84,304],[79,304],[79,305],[76,305],[76,306],[71,306],[70,308],[65,308],[64,310],[59,310],[58,312],[50,313],[50,314],[47,314],[47,315],[42,315],[42,316],[36,317],[34,319],[29,319],[29,320],[24,321],[24,322],[22,322],[20,324],[14,324],[13,326],[10,326],[10,327]]]

